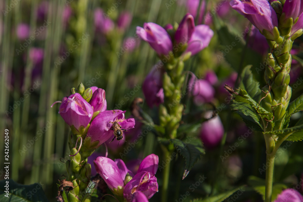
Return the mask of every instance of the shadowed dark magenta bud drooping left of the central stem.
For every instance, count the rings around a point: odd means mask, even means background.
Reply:
[[[154,104],[158,106],[164,102],[164,92],[162,88],[163,69],[155,65],[146,76],[142,90],[148,106],[151,108]]]

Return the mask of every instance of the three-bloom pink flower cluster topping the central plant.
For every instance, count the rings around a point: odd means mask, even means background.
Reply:
[[[172,26],[165,28],[153,22],[144,23],[143,28],[137,27],[137,35],[157,52],[160,58],[168,56],[195,55],[207,47],[214,32],[208,25],[195,26],[194,17],[189,13],[180,22],[180,25],[171,33]],[[173,38],[171,36],[174,36]]]

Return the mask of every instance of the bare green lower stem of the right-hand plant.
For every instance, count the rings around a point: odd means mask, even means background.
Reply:
[[[274,175],[275,155],[266,155],[265,202],[271,202],[272,181]]]

